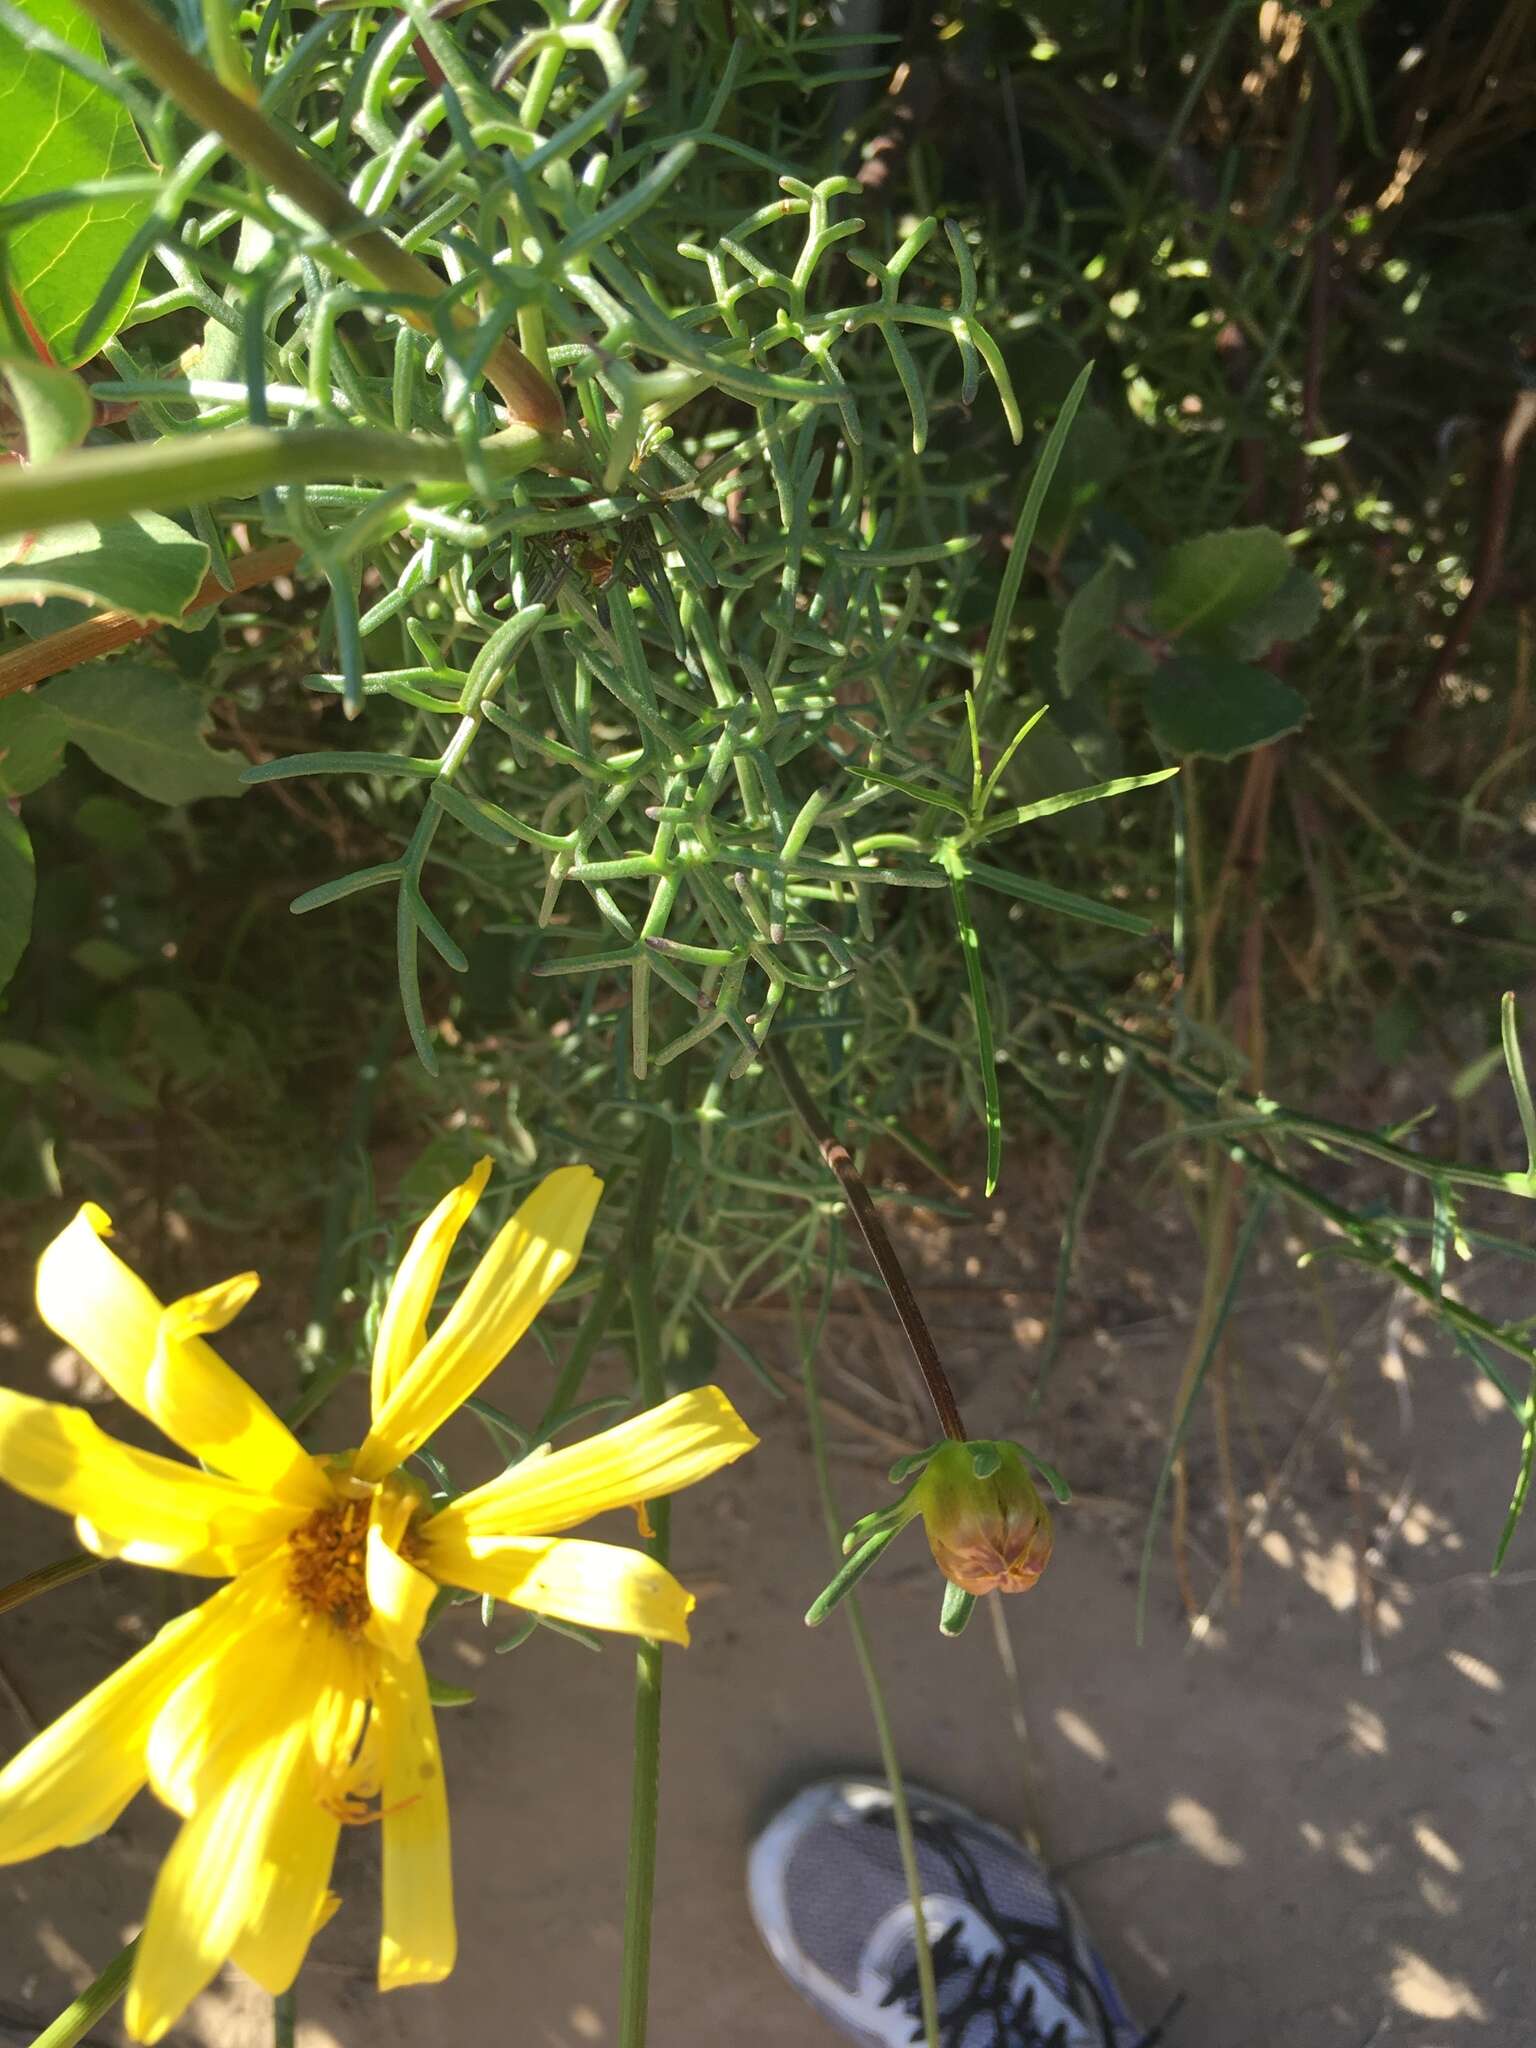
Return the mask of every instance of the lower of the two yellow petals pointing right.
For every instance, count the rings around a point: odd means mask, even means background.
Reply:
[[[422,1536],[422,1563],[444,1585],[584,1628],[688,1640],[694,1595],[643,1550],[578,1536],[463,1536],[438,1530],[438,1522],[442,1516]]]

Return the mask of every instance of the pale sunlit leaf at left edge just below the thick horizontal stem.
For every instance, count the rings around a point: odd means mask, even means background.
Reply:
[[[6,555],[0,604],[76,598],[143,621],[180,618],[209,573],[207,547],[162,512],[49,526],[12,541]]]

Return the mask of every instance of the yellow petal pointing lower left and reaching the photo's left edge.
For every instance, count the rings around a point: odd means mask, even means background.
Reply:
[[[270,1577],[270,1575],[268,1575]],[[172,1692],[217,1655],[231,1618],[262,1597],[264,1577],[236,1579],[43,1729],[0,1769],[0,1864],[90,1841],[145,1782],[150,1729]]]

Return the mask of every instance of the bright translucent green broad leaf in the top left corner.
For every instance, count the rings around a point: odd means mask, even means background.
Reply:
[[[20,10],[59,41],[102,61],[96,25],[76,0],[20,0]],[[2,29],[0,135],[0,203],[150,170],[121,100]],[[113,264],[150,217],[150,207],[147,193],[90,199],[25,221],[8,236],[10,285],[37,338],[59,362],[72,367],[82,360],[74,348],[80,324]],[[139,270],[135,266],[123,279],[106,334],[117,330],[133,303]]]

